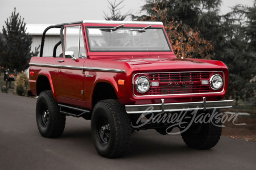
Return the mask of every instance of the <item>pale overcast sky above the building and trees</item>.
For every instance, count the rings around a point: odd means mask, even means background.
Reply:
[[[133,14],[139,15],[144,1],[125,0],[122,3],[125,6],[121,14],[131,10]],[[253,0],[222,0],[221,14],[229,12],[229,7],[237,4],[252,6]],[[109,13],[107,0],[0,0],[0,32],[6,19],[14,11],[14,7],[26,24],[60,24],[85,19],[104,20],[103,11]]]

